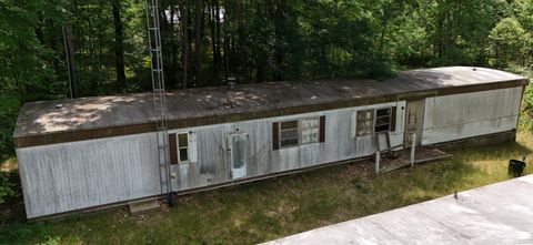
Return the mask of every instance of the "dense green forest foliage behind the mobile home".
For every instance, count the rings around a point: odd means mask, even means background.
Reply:
[[[139,0],[120,1],[128,82],[114,84],[112,2],[2,2],[1,89],[40,98],[68,94],[61,31],[68,21],[79,94],[149,90],[145,12]],[[229,75],[240,82],[385,79],[413,67],[529,67],[533,60],[529,0],[201,2],[161,2],[169,88],[181,88],[185,80],[189,86],[219,85]]]

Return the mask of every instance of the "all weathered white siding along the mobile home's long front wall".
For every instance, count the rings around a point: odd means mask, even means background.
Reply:
[[[425,100],[424,145],[513,130],[522,88]],[[232,181],[228,135],[249,135],[247,177],[368,156],[372,136],[354,137],[359,110],[396,106],[391,144],[403,142],[405,101],[190,129],[190,162],[172,166],[172,190],[185,191]],[[325,142],[272,150],[272,123],[325,115]],[[158,195],[155,134],[18,149],[28,217]]]

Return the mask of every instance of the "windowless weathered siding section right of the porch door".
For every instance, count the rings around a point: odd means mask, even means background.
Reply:
[[[514,130],[521,98],[522,86],[428,98],[422,144]]]

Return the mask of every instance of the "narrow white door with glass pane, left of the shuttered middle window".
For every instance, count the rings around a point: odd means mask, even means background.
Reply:
[[[248,134],[232,134],[228,136],[230,152],[230,176],[240,178],[247,176]]]

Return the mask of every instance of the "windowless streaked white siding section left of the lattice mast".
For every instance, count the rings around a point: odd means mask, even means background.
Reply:
[[[28,217],[160,192],[155,134],[18,149]]]

